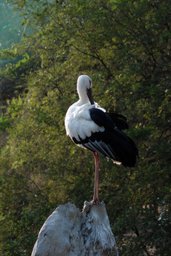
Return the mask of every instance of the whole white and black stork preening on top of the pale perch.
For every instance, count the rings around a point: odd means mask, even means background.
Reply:
[[[65,129],[72,142],[92,151],[95,164],[94,196],[91,204],[99,204],[99,155],[111,159],[114,164],[134,167],[138,159],[138,147],[122,129],[128,129],[126,117],[106,112],[94,102],[92,79],[80,75],[77,79],[79,100],[72,104],[65,115]]]

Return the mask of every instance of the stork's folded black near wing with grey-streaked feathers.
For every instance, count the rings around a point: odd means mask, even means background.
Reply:
[[[113,118],[111,118],[109,114],[96,108],[92,108],[89,112],[92,120],[100,127],[105,128],[104,132],[92,132],[92,135],[85,139],[79,137],[79,141],[74,137],[73,141],[76,144],[82,144],[86,149],[98,152],[101,156],[108,156],[115,161],[120,161],[123,166],[135,166],[138,156],[137,146],[114,123],[114,117],[123,120],[123,116],[113,114]],[[123,124],[120,127],[123,127]]]

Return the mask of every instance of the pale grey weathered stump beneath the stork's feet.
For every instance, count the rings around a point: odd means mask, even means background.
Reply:
[[[31,256],[118,256],[105,204],[59,206],[45,221]]]

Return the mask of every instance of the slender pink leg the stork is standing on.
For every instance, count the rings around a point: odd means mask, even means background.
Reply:
[[[95,178],[94,178],[94,196],[91,201],[92,204],[99,204],[99,157],[97,152],[92,152],[95,161]]]

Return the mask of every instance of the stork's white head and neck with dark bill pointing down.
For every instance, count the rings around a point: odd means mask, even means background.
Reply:
[[[94,100],[92,97],[92,79],[88,75],[80,75],[77,80],[77,92],[79,95],[79,100],[86,103],[89,101],[94,105]]]

